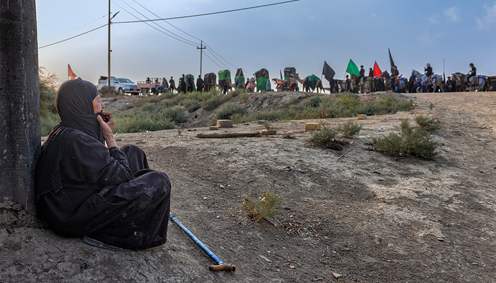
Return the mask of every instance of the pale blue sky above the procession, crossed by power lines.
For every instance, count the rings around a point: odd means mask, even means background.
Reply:
[[[149,77],[200,73],[242,67],[245,77],[265,68],[271,78],[296,67],[301,77],[321,76],[327,61],[344,78],[352,59],[366,71],[377,61],[389,70],[388,48],[400,74],[496,75],[496,1],[332,1],[300,0],[266,8],[173,19],[167,22],[117,23],[182,17],[276,3],[282,0],[112,0],[111,74],[144,81]],[[37,0],[38,45],[87,32],[108,21],[108,1]],[[145,8],[143,8],[143,7]],[[135,9],[135,10],[133,10]],[[137,10],[137,12],[136,12]],[[152,14],[151,12],[156,14]],[[136,17],[134,17],[132,14]],[[140,14],[141,13],[141,14]],[[143,15],[142,15],[143,14]],[[156,25],[157,24],[157,25]],[[174,25],[174,26],[173,26]],[[169,30],[182,39],[165,35]],[[39,65],[68,79],[70,64],[81,78],[98,83],[107,76],[108,28],[39,49]],[[210,58],[208,58],[208,57]],[[328,83],[324,79],[324,85]]]

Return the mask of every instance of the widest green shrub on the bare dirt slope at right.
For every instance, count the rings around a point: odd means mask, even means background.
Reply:
[[[417,156],[432,160],[437,156],[438,143],[431,139],[425,129],[411,127],[409,120],[404,119],[400,124],[400,134],[390,133],[388,136],[373,138],[378,151],[388,156]]]

